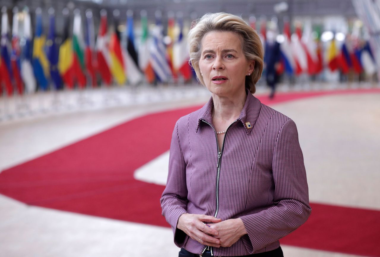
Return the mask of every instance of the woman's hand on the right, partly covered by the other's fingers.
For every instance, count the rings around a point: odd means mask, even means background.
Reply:
[[[220,239],[220,246],[229,247],[247,233],[243,221],[240,218],[227,219],[215,224],[210,224],[212,229],[218,231],[215,238]]]

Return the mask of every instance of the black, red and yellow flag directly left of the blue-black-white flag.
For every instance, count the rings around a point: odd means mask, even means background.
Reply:
[[[114,11],[114,32],[109,42],[109,55],[111,56],[111,73],[117,84],[123,85],[127,80],[125,76],[125,63],[120,46],[119,10]]]

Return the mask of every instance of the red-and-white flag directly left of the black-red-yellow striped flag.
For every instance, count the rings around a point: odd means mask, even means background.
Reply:
[[[96,41],[97,52],[97,71],[100,73],[106,85],[110,85],[112,81],[111,71],[111,57],[109,56],[109,41],[107,36],[107,11],[102,9],[100,11],[100,26],[99,34]]]

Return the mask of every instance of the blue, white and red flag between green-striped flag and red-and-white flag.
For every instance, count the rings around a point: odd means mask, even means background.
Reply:
[[[85,30],[84,35],[85,35],[85,43],[86,43],[84,56],[85,56],[87,73],[89,74],[89,77],[91,78],[92,87],[96,87],[97,85],[96,73],[95,73],[96,63],[95,63],[95,58],[93,58],[95,34],[94,34],[94,24],[93,24],[91,10],[86,11],[86,30]]]

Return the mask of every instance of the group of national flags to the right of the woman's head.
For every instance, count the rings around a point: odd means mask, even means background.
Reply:
[[[251,27],[256,29],[255,19],[250,20]],[[276,29],[272,30],[275,33]],[[270,66],[271,62],[278,62],[277,74],[317,75],[328,68],[332,72],[339,70],[342,74],[351,71],[356,74],[365,72],[372,76],[377,71],[377,64],[369,42],[358,36],[346,35],[343,42],[337,42],[335,36],[332,35],[324,46],[320,33],[313,35],[311,22],[297,23],[294,33],[291,33],[287,19],[284,20],[283,33],[280,37],[277,35],[276,39],[273,39],[273,36],[268,39],[267,35],[266,22],[262,20],[260,37],[264,46],[264,61],[267,61],[267,66]],[[275,47],[271,47],[271,44],[277,44],[278,56],[268,59],[265,57],[271,57],[275,51]]]

